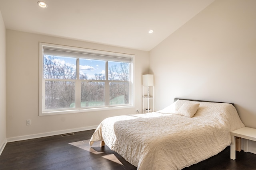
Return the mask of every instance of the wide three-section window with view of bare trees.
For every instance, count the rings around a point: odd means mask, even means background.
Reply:
[[[40,43],[39,115],[134,107],[134,55]]]

